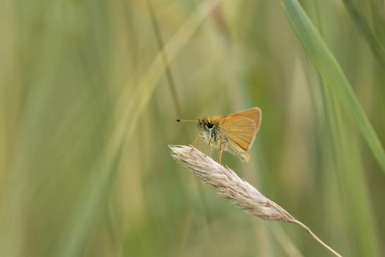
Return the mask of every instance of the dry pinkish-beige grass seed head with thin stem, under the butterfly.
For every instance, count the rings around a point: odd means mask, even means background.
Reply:
[[[232,200],[237,206],[263,220],[295,223],[334,256],[341,257],[341,254],[325,244],[309,227],[294,218],[277,203],[263,196],[258,189],[242,180],[233,170],[220,165],[213,158],[191,146],[170,146],[170,149],[175,161],[191,170],[203,182],[214,187],[220,197]]]

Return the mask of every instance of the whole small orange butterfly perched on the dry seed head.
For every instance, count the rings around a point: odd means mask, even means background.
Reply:
[[[248,161],[248,149],[254,142],[255,135],[260,128],[262,120],[262,111],[254,107],[238,113],[217,116],[212,118],[203,118],[198,121],[199,134],[192,143],[203,137],[210,148],[210,155],[213,152],[213,146],[218,151],[218,160],[222,164],[223,151],[229,151],[237,156],[241,161]],[[196,120],[177,120],[177,122],[187,122]]]

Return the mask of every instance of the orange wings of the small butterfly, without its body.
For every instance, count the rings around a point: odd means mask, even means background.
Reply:
[[[251,108],[218,119],[220,128],[229,142],[228,150],[243,161],[248,161],[247,151],[260,128],[262,119],[260,108]]]

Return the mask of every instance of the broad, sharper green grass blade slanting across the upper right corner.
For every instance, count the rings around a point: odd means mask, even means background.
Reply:
[[[374,128],[370,124],[365,112],[362,110],[357,97],[355,96],[351,84],[344,75],[339,63],[329,51],[327,46],[317,31],[311,20],[306,15],[303,8],[296,0],[281,1],[291,26],[296,32],[298,40],[308,53],[315,68],[320,73],[324,84],[330,88],[337,101],[349,113],[355,124],[360,128],[360,132],[369,144],[374,157],[385,173],[385,153]]]

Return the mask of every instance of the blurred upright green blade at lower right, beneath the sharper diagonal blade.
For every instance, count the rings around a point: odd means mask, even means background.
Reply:
[[[370,196],[368,196],[365,175],[362,174],[360,156],[355,150],[357,139],[348,136],[348,128],[343,123],[341,108],[327,87],[321,87],[326,117],[325,127],[332,146],[332,163],[341,192],[344,221],[348,224],[348,234],[352,247],[360,256],[380,256],[376,237],[376,226],[372,216]]]

